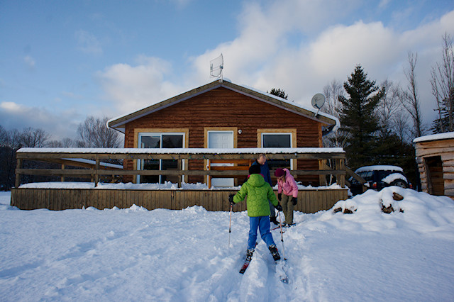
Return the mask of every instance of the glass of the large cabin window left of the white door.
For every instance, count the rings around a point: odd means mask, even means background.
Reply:
[[[140,148],[182,148],[184,147],[184,133],[139,133],[138,146]],[[179,160],[138,160],[139,170],[176,170]],[[183,167],[184,162],[182,162]],[[177,183],[178,176],[166,175],[138,175],[137,182],[159,183],[165,181]]]

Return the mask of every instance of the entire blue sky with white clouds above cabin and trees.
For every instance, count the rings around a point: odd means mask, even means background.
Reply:
[[[87,116],[116,117],[224,77],[281,88],[310,106],[360,64],[377,84],[406,85],[409,51],[423,119],[428,82],[454,35],[454,1],[0,0],[0,125],[76,138]]]

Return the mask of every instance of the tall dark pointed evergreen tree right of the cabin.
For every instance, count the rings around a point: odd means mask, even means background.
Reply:
[[[380,129],[375,114],[377,105],[384,96],[384,89],[379,89],[375,81],[367,79],[367,73],[361,65],[344,82],[343,87],[350,96],[339,96],[342,103],[340,113],[341,130],[349,133],[348,145],[345,146],[348,165],[357,168],[376,162],[375,147],[377,131]]]

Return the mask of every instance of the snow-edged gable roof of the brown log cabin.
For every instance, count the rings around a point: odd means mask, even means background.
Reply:
[[[134,121],[138,118],[142,118],[143,116],[147,116],[150,113],[160,111],[161,109],[167,108],[169,106],[178,104],[181,101],[186,101],[187,99],[191,99],[194,96],[198,96],[199,94],[204,94],[207,91],[217,89],[217,88],[226,88],[232,91],[236,91],[239,94],[243,94],[245,96],[250,96],[253,99],[257,99],[259,101],[263,101],[267,104],[272,104],[277,106],[278,108],[282,108],[284,110],[291,111],[293,113],[297,113],[300,116],[304,116],[306,118],[310,118],[311,120],[318,121],[326,126],[326,128],[331,130],[337,130],[340,127],[340,123],[338,118],[331,116],[327,113],[317,112],[315,109],[312,108],[305,108],[303,106],[299,106],[294,104],[292,101],[287,101],[286,99],[282,99],[279,96],[275,96],[272,94],[267,94],[262,91],[258,91],[257,89],[253,89],[247,86],[241,86],[238,84],[233,84],[226,79],[216,80],[209,84],[205,84],[204,86],[199,86],[195,89],[189,90],[177,96],[173,96],[170,99],[165,101],[161,101],[157,104],[153,104],[146,108],[140,109],[133,113],[129,113],[125,116],[119,116],[117,118],[112,118],[110,121],[107,122],[107,126],[109,128],[118,130],[122,133],[125,132],[125,125],[131,121]]]

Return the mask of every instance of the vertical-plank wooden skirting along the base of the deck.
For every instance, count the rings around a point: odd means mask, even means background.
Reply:
[[[348,198],[347,189],[319,189],[298,192],[295,211],[316,213],[328,210],[339,200]],[[66,210],[88,208],[129,208],[135,204],[148,210],[167,208],[181,210],[203,206],[207,211],[230,211],[228,195],[234,190],[114,190],[114,189],[12,189],[11,206],[21,210],[48,208]],[[275,192],[277,193],[277,192]],[[233,211],[245,211],[246,203],[233,206]]]

